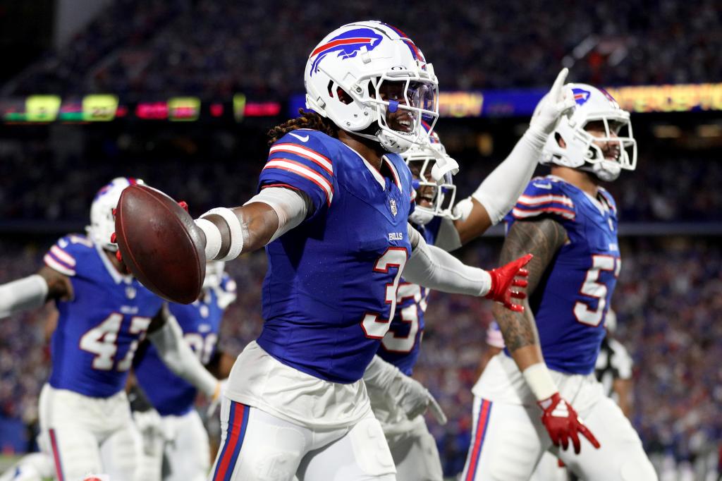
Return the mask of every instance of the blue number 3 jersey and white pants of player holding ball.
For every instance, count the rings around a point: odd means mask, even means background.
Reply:
[[[399,155],[386,154],[379,172],[338,139],[299,129],[271,146],[259,189],[277,186],[303,192],[310,215],[266,246],[264,330],[231,372],[214,479],[253,476],[251,462],[271,452],[285,460],[274,462],[282,479],[297,469],[313,477],[359,450],[373,453],[369,474],[387,475],[393,460],[385,443],[370,443],[383,432],[361,378],[388,331],[411,254],[411,172]],[[300,444],[278,454],[277,436],[290,430]],[[334,440],[299,467],[305,453]]]

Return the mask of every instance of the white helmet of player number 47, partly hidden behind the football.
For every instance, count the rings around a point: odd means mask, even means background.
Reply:
[[[132,177],[116,177],[95,194],[90,204],[90,225],[85,230],[97,246],[111,252],[118,250],[118,245],[110,242],[110,235],[116,232],[113,209],[118,205],[123,189],[138,183],[143,181]]]

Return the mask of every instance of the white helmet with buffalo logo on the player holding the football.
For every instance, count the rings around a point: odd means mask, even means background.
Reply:
[[[432,127],[438,118],[433,66],[404,32],[383,22],[349,23],[326,35],[308,57],[304,83],[307,108],[389,152],[420,142],[422,118]],[[379,92],[391,86],[397,95],[383,100]],[[387,113],[399,109],[411,113],[402,121],[408,131],[388,126]]]

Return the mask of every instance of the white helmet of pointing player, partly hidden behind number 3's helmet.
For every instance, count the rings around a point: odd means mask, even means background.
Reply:
[[[427,129],[427,125],[424,125]],[[422,145],[412,145],[403,154],[406,165],[409,166],[414,175],[414,188],[416,188],[416,208],[409,220],[416,225],[426,225],[435,216],[447,217],[451,220],[458,219],[459,215],[453,213],[454,201],[456,199],[456,186],[453,185],[451,172],[445,173],[440,183],[436,182],[431,175],[433,166],[439,159],[447,159],[456,164],[446,153],[438,134],[430,131],[428,142]],[[448,162],[448,163],[451,163]],[[422,206],[421,200],[430,202],[429,207]]]

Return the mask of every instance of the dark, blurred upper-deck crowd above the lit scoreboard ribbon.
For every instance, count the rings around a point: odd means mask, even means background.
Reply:
[[[602,85],[722,76],[714,0],[116,0],[6,93],[287,95],[302,90],[318,39],[370,18],[406,30],[445,90],[546,86],[562,63],[575,81]]]

